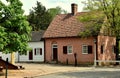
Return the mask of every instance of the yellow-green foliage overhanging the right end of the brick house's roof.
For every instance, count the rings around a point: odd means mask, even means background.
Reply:
[[[103,24],[104,15],[99,11],[86,12],[78,17],[84,24],[84,30],[79,33],[81,37],[97,36]]]

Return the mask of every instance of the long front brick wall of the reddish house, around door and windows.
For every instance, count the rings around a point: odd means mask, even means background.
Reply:
[[[69,64],[74,64],[74,53],[77,53],[77,62],[93,63],[94,62],[94,38],[54,38],[45,39],[45,59],[46,62],[52,61],[52,43],[56,42],[58,45],[58,61],[66,63],[68,59]],[[82,45],[92,45],[92,54],[82,54]],[[72,54],[63,54],[63,46],[73,46]]]

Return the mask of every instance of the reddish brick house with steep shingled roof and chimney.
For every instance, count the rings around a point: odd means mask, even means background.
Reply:
[[[84,24],[77,17],[77,4],[71,4],[71,13],[57,15],[44,33],[45,61],[78,64],[94,60],[115,60],[115,37],[98,35],[87,38],[78,36]]]

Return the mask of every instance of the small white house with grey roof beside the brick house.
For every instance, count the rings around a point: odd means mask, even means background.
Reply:
[[[31,41],[28,42],[28,46],[31,48],[26,55],[20,55],[15,53],[16,62],[43,62],[44,61],[44,40],[42,38],[44,31],[32,31]],[[6,58],[11,60],[11,54],[3,54],[0,52],[0,56],[3,60]]]

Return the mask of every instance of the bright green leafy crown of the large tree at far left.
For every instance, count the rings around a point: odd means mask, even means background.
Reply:
[[[0,1],[0,51],[3,53],[19,52],[25,54],[30,40],[31,27],[23,15],[19,0]]]

